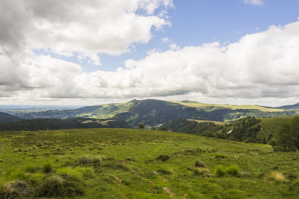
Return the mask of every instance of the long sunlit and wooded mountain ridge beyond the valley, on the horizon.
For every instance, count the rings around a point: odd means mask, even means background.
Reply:
[[[191,101],[163,101],[157,99],[132,100],[125,103],[85,106],[73,110],[40,112],[9,112],[25,119],[33,118],[98,118],[121,119],[130,125],[139,123],[154,126],[171,119],[185,118],[233,122],[242,117],[282,117],[296,114],[294,110],[272,109],[257,105],[204,104]]]

